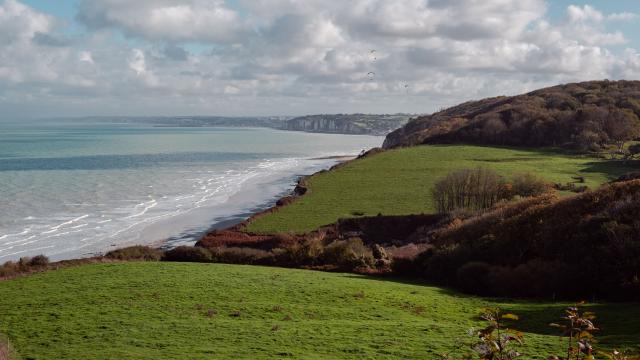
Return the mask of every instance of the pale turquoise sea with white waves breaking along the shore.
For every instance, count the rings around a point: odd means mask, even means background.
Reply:
[[[0,263],[193,244],[377,136],[0,121]]]

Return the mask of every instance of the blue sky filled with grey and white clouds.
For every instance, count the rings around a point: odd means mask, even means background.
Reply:
[[[0,118],[431,113],[640,79],[639,0],[0,0]]]

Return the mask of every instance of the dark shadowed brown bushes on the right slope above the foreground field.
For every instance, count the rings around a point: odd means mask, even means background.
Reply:
[[[527,199],[443,228],[412,269],[481,295],[638,299],[638,234],[635,180]]]

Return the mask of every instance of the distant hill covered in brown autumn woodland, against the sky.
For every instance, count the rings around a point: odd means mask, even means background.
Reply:
[[[559,85],[467,102],[410,121],[384,148],[424,143],[562,146],[598,151],[640,137],[640,81]]]

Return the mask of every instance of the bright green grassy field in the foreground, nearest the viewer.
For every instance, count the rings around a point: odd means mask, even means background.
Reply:
[[[179,263],[42,273],[0,282],[0,299],[0,332],[36,359],[432,359],[467,339],[488,305],[520,314],[527,359],[544,359],[533,355],[562,347],[546,324],[565,306],[351,274]],[[592,307],[602,346],[640,343],[640,305]]]

